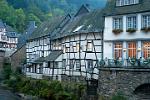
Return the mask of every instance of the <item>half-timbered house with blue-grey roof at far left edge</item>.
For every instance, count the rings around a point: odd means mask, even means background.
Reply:
[[[17,32],[0,19],[0,50],[6,52],[5,56],[10,56],[16,50],[17,43]]]

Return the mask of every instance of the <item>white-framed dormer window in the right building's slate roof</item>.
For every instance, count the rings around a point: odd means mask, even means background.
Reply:
[[[138,4],[139,0],[116,0],[116,6],[126,6]]]

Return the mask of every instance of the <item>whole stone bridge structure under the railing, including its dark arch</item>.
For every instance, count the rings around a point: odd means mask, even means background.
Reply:
[[[98,83],[98,93],[102,96],[122,92],[130,100],[150,100],[149,66],[100,67]]]

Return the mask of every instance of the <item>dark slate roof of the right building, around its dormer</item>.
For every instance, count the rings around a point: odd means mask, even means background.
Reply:
[[[150,0],[139,0],[139,4],[116,6],[116,0],[108,0],[105,7],[105,16],[132,14],[150,11]]]

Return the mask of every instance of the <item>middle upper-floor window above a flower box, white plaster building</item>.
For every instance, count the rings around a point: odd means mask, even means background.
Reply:
[[[136,29],[136,16],[127,17],[127,29]]]

